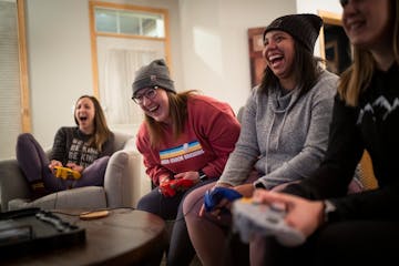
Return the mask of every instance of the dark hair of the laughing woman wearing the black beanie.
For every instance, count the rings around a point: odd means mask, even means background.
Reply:
[[[300,95],[303,95],[308,92],[319,79],[321,73],[319,62],[321,62],[323,60],[316,58],[313,53],[305,49],[304,45],[299,44],[295,39],[293,40],[295,49],[293,73],[295,75],[297,84],[299,85]],[[264,76],[260,82],[259,93],[266,93],[269,88],[276,88],[278,86],[278,78],[273,73],[268,65],[266,65]]]

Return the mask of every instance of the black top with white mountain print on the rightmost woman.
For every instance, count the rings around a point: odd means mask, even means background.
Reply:
[[[379,188],[347,194],[354,171],[367,150]],[[399,66],[376,71],[357,108],[335,99],[326,157],[316,172],[285,192],[307,198],[331,198],[337,219],[398,219]],[[345,196],[345,197],[341,197]]]

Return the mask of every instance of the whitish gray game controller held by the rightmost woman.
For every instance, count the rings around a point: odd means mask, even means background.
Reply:
[[[284,222],[285,211],[266,204],[253,203],[249,198],[233,203],[233,231],[238,232],[244,243],[253,236],[275,236],[284,246],[298,246],[305,243],[305,235]]]

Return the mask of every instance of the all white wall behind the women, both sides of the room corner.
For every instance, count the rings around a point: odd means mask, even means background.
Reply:
[[[108,1],[167,9],[177,90],[201,90],[235,111],[250,91],[248,28],[287,13],[341,12],[338,0]],[[32,133],[50,146],[60,126],[74,124],[74,101],[93,94],[89,0],[27,0],[25,6]]]

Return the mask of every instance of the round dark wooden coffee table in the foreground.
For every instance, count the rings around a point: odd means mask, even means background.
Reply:
[[[152,265],[151,260],[164,249],[165,222],[151,213],[120,208],[110,211],[106,217],[90,221],[55,214],[85,228],[85,242],[1,259],[1,265]]]

